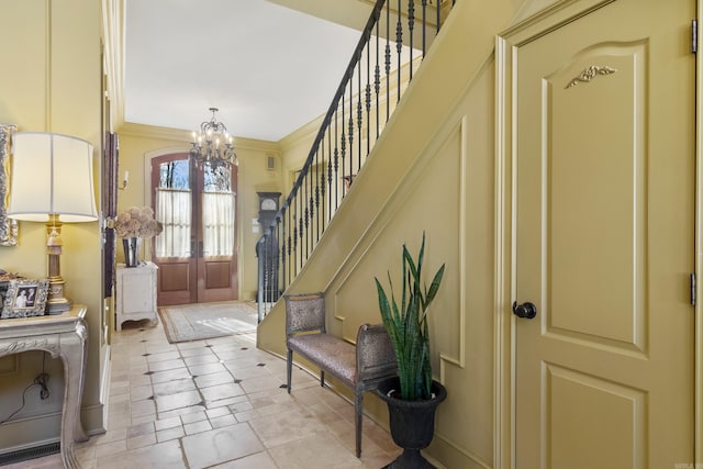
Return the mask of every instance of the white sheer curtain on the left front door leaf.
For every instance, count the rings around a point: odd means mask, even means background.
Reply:
[[[190,257],[191,193],[189,190],[156,189],[156,220],[164,232],[156,236],[156,257]]]

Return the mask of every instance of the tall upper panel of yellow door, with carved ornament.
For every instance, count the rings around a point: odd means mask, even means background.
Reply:
[[[596,45],[543,88],[547,332],[629,351],[647,336],[645,53]]]

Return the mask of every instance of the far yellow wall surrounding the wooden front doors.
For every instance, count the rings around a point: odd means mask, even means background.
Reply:
[[[193,129],[199,119],[207,115],[193,115]],[[119,191],[118,210],[131,205],[150,205],[149,194],[150,158],[169,153],[188,152],[190,132],[176,131],[145,125],[125,124],[116,130],[120,136],[120,175],[130,171],[130,183],[125,190]],[[236,135],[236,130],[233,130]],[[258,197],[256,192],[282,192],[281,165],[270,171],[266,167],[267,156],[280,159],[278,145],[270,142],[236,138],[234,148],[237,154],[237,246],[238,276],[241,300],[254,300],[257,290],[256,243],[261,236],[260,230],[255,232],[253,220],[258,219]],[[122,179],[122,177],[120,178]],[[142,258],[150,258],[150,245],[144,243]],[[118,261],[123,261],[124,254],[118,247]]]

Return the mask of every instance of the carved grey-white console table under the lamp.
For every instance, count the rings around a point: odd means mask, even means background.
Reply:
[[[45,350],[64,361],[60,446],[65,468],[80,468],[74,442],[88,439],[80,423],[88,339],[85,316],[86,306],[75,304],[62,314],[0,320],[0,357]]]

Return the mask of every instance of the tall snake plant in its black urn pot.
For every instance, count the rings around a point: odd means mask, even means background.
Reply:
[[[401,456],[387,468],[434,467],[420,450],[432,442],[435,411],[447,397],[444,386],[432,378],[427,326],[427,309],[439,290],[445,265],[437,270],[427,288],[421,281],[424,254],[424,233],[416,260],[403,245],[400,304],[390,272],[390,302],[381,282],[375,279],[381,317],[398,362],[398,377],[382,381],[377,393],[388,404],[393,442],[403,448]]]

